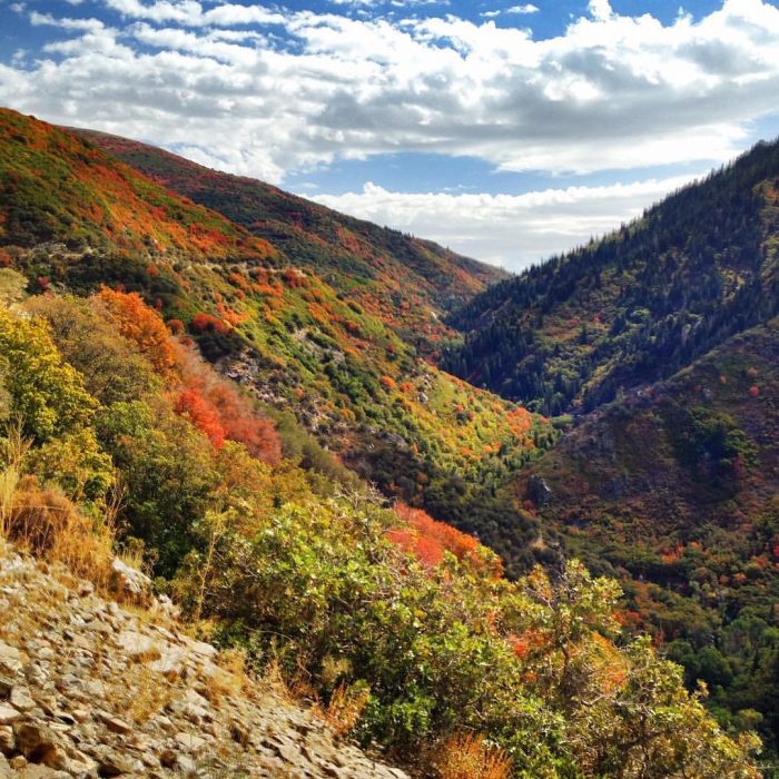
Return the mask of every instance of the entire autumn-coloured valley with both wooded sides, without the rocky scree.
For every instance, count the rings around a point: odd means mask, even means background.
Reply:
[[[779,145],[509,276],[0,126],[12,543],[98,579],[135,555],[200,638],[420,776],[463,733],[495,777],[770,776]]]

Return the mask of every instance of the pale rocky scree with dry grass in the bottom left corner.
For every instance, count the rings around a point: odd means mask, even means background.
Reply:
[[[0,550],[0,779],[406,775],[159,610]]]

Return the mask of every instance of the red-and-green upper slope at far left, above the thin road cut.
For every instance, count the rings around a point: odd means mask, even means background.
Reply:
[[[0,108],[0,245],[257,262],[276,253],[68,132]]]

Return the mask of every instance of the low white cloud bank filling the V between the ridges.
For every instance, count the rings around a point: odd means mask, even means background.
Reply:
[[[424,236],[472,257],[521,270],[604,235],[691,177],[602,187],[546,189],[526,195],[452,195],[387,191],[310,195],[329,208]]]

